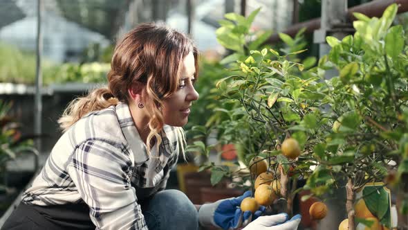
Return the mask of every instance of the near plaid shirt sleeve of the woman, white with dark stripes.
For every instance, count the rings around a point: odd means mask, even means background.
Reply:
[[[128,153],[120,143],[86,141],[68,165],[96,229],[147,229],[131,186],[133,165]]]

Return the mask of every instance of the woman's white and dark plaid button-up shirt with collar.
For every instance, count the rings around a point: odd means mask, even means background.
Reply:
[[[165,189],[178,154],[181,127],[165,125],[147,154],[128,105],[87,114],[55,144],[22,201],[40,206],[85,202],[96,229],[147,229],[138,200]]]

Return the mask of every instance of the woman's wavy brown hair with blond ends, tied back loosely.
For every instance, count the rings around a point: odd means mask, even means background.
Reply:
[[[163,129],[164,120],[160,107],[163,99],[169,98],[178,89],[183,59],[194,54],[198,69],[198,51],[192,39],[164,24],[140,24],[129,31],[115,46],[108,73],[108,87],[94,89],[87,96],[76,98],[59,118],[58,123],[65,132],[82,116],[104,109],[119,102],[129,103],[128,89],[142,85],[145,108],[149,114],[150,133],[147,143],[156,138]],[[198,79],[197,73],[194,78]],[[150,151],[150,146],[148,149]]]

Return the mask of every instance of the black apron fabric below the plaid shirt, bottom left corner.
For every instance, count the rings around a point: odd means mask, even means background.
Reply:
[[[51,206],[28,205],[21,202],[1,227],[1,230],[30,229],[95,229],[89,217],[89,206],[62,204]]]

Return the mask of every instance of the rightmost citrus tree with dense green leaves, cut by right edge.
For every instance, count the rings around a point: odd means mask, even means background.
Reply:
[[[319,168],[306,185],[314,187],[315,178],[333,178],[331,172],[337,172],[335,180],[347,181],[349,229],[354,228],[354,220],[375,224],[375,220],[362,220],[363,216],[353,209],[356,191],[368,182],[386,178],[384,186],[396,184],[407,174],[408,49],[402,26],[391,26],[397,10],[393,4],[380,18],[355,13],[355,34],[341,41],[327,37],[332,49],[319,61],[317,73],[323,75],[334,67],[339,76],[325,81],[330,90],[323,102],[330,105],[328,114],[334,122],[331,133],[315,146]],[[398,175],[394,176],[397,168]],[[406,182],[400,182],[400,188],[404,188]],[[407,200],[408,191],[401,192],[402,200]],[[389,201],[366,199],[369,195],[364,193],[362,197],[369,211],[382,225],[391,227],[387,218]],[[404,212],[406,206],[402,204],[400,211]]]

